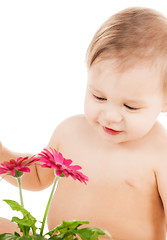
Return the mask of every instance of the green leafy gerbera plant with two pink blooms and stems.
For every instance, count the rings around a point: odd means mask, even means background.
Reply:
[[[53,182],[51,194],[46,205],[41,227],[37,228],[37,220],[31,215],[29,211],[24,208],[21,178],[24,172],[30,172],[30,166],[40,162],[43,168],[54,169],[55,179]],[[74,180],[78,180],[81,183],[88,181],[88,177],[81,173],[79,170],[82,168],[78,165],[71,165],[72,160],[65,159],[61,153],[55,149],[50,148],[50,151],[44,149],[40,154],[32,157],[19,157],[17,160],[9,160],[0,165],[0,174],[11,175],[17,179],[20,195],[20,204],[14,200],[4,200],[12,210],[22,213],[23,218],[14,216],[12,222],[17,223],[21,234],[15,232],[0,234],[0,240],[98,240],[99,235],[110,235],[99,228],[82,227],[83,224],[89,224],[88,221],[62,221],[60,225],[52,229],[51,231],[44,233],[44,226],[47,219],[49,206],[54,195],[56,185],[58,181],[63,177],[71,176]]]

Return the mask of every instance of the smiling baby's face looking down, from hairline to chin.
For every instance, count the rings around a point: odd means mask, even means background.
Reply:
[[[88,72],[85,115],[102,138],[114,143],[145,136],[162,111],[160,71],[136,66],[118,72],[110,60]]]

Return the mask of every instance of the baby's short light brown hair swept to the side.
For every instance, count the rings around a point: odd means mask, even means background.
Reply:
[[[167,62],[167,19],[149,8],[128,8],[111,16],[96,32],[87,50],[87,67],[114,59],[121,68],[147,61]],[[159,63],[158,63],[159,64]]]

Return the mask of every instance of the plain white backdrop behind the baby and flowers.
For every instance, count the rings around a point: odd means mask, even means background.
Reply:
[[[83,113],[86,49],[110,15],[132,6],[167,15],[165,0],[0,1],[0,140],[7,148],[38,153],[63,119]],[[23,192],[38,220],[49,192]],[[2,180],[0,216],[11,219],[7,198],[19,201],[18,189]]]

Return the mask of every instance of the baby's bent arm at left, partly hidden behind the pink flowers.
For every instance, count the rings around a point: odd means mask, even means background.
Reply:
[[[51,147],[59,151],[60,145],[65,145],[65,143],[68,144],[69,138],[67,139],[67,135],[70,136],[71,139],[73,134],[71,129],[76,126],[78,121],[80,122],[80,118],[82,119],[83,117],[74,116],[60,123],[60,125],[55,129],[46,148],[49,150]],[[18,157],[25,156],[32,156],[32,154],[15,153],[0,144],[0,163],[3,161],[8,161],[10,159],[17,159]],[[17,182],[13,177],[7,176],[5,179],[14,185],[17,185]],[[27,190],[38,191],[50,186],[53,183],[53,180],[53,169],[41,168],[41,166],[37,163],[31,167],[30,173],[24,173],[22,177],[22,187]]]

